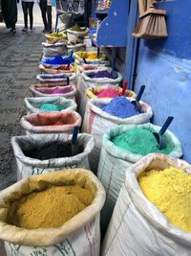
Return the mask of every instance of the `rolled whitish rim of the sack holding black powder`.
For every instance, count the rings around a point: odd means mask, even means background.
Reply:
[[[51,138],[50,138],[51,136]],[[94,136],[86,133],[79,133],[77,136],[77,139],[82,140],[82,143],[80,145],[85,144],[84,151],[81,153],[78,153],[71,157],[59,157],[59,158],[50,158],[48,160],[39,160],[36,158],[31,158],[26,155],[24,155],[23,151],[21,151],[20,146],[18,145],[19,140],[24,140],[27,143],[35,143],[35,141],[71,141],[72,140],[72,134],[32,134],[32,135],[23,135],[23,136],[13,136],[11,137],[11,147],[14,152],[14,156],[17,160],[22,162],[23,164],[27,166],[33,166],[33,167],[39,167],[39,168],[62,168],[63,165],[71,165],[73,163],[81,163],[90,152],[92,152],[96,145],[96,139]],[[48,141],[46,138],[49,138]]]

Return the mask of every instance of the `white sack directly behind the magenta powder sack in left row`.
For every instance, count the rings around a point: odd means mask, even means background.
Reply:
[[[70,83],[76,82],[75,73],[61,73],[56,75],[51,74],[38,74],[36,75],[36,80],[40,83],[52,83],[52,84],[66,84],[67,77],[69,78]]]

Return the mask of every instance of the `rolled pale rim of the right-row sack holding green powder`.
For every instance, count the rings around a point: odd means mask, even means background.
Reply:
[[[144,155],[133,153],[131,151],[124,151],[117,147],[114,143],[111,142],[111,137],[123,134],[132,128],[154,128],[157,132],[159,132],[160,127],[155,126],[153,124],[140,124],[140,125],[122,125],[115,128],[111,128],[108,132],[103,135],[102,139],[102,147],[107,151],[107,153],[111,154],[115,158],[119,158],[122,160],[126,160],[131,163],[136,163],[140,158],[144,157]],[[168,156],[180,158],[183,154],[180,140],[176,137],[176,135],[170,130],[166,130],[165,134],[170,138],[171,142],[176,145],[176,149],[171,151]]]

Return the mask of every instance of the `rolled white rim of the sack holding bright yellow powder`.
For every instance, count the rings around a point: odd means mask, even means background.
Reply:
[[[191,175],[191,166],[180,159],[170,157],[162,153],[150,153],[140,159],[137,163],[130,166],[125,173],[124,187],[131,198],[138,213],[149,221],[160,233],[173,238],[180,244],[189,245],[191,243],[191,233],[181,230],[179,227],[170,223],[167,218],[159,211],[149,199],[142,193],[138,185],[138,175],[140,175],[146,168],[148,168],[155,161],[164,160],[166,163],[165,168],[173,166],[178,169],[185,169]],[[151,213],[151,214],[149,214]]]

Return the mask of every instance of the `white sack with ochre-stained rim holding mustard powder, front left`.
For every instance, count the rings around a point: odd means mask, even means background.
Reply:
[[[25,208],[28,212],[23,213],[24,222],[22,224],[26,224],[27,220],[33,216],[33,221],[28,223],[30,228],[21,228],[12,224],[12,221],[15,221],[15,218],[18,217],[18,214],[15,215],[12,210],[12,204],[16,204],[21,199],[24,205],[24,202],[28,202],[24,200],[28,195],[31,195],[28,197],[32,198],[33,194],[44,193],[45,190],[50,191],[53,187],[62,189],[65,186],[78,187],[76,196],[79,198],[79,202],[78,204],[74,203],[73,208],[78,207],[79,203],[83,202],[85,204],[85,207],[70,220],[57,227],[32,229],[32,225],[40,222],[38,219],[42,219],[43,223],[46,222],[49,225],[51,225],[49,221],[59,223],[63,213],[66,215],[71,210],[70,201],[67,200],[65,204],[62,201],[63,195],[60,195],[59,197],[55,196],[52,202],[46,198],[47,196],[38,199],[36,202],[38,211],[35,205],[31,203],[29,206],[28,203],[28,207]],[[84,197],[84,193],[78,192],[79,189],[86,190],[88,196]],[[70,193],[68,196],[71,196]],[[102,185],[92,172],[84,169],[33,175],[15,183],[0,192],[0,239],[5,241],[7,255],[98,256],[100,244],[99,214],[104,200],[105,192]],[[55,209],[53,208],[54,205],[56,205]],[[21,208],[20,214],[22,213]],[[30,209],[32,212],[30,212]],[[45,216],[45,212],[48,213],[49,209],[50,213]],[[39,211],[42,212],[42,215],[37,215]],[[51,213],[53,213],[53,216]]]

